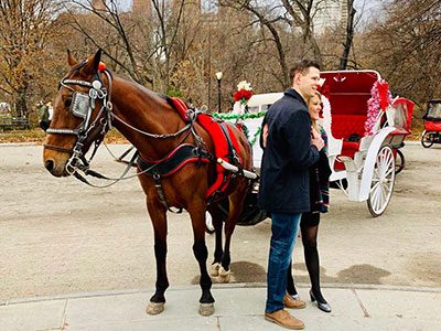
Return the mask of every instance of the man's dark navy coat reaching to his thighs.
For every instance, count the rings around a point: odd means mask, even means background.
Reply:
[[[289,88],[267,111],[262,128],[266,124],[268,138],[260,168],[259,205],[276,213],[308,212],[309,168],[319,160],[316,147],[311,146],[308,106],[298,92]]]

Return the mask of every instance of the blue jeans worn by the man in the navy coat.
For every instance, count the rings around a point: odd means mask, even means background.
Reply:
[[[271,213],[271,246],[268,258],[266,312],[283,309],[287,270],[292,256],[302,214]]]

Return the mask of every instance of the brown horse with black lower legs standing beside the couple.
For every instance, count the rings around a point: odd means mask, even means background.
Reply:
[[[216,161],[209,158],[214,154],[211,136],[196,120],[185,122],[164,96],[111,75],[101,67],[100,57],[101,52],[98,51],[87,61],[78,63],[67,52],[71,70],[61,81],[53,119],[46,131],[44,166],[54,177],[78,177],[79,170],[88,169],[84,154],[94,142],[99,145],[112,126],[138,149],[143,160],[161,160],[181,145],[201,150],[198,162],[186,162],[174,173],[160,179],[138,169],[153,224],[157,259],[155,292],[147,312],[155,314],[164,309],[164,292],[169,287],[165,266],[166,211],[173,206],[185,209],[190,214],[194,234],[193,252],[201,270],[200,313],[212,314],[214,298],[206,267],[205,211],[212,214],[216,232],[214,266],[217,267],[214,269],[215,273],[220,269],[220,276],[225,276],[229,271],[230,237],[241,212],[249,180],[236,173],[227,184],[225,194],[228,195],[230,207],[225,220],[223,248],[223,220],[217,212],[217,201],[207,205],[206,199],[207,188],[216,178]],[[241,170],[251,170],[251,150],[246,137],[236,128],[233,131],[240,146],[237,154],[241,162],[237,166],[239,173],[243,173]]]

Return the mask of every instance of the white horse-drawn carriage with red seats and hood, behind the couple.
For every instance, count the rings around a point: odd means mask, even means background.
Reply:
[[[375,71],[323,72],[321,77],[331,181],[351,201],[367,201],[370,214],[379,216],[390,201],[395,174],[405,167],[399,149],[410,134],[413,103],[392,99],[388,84]],[[265,114],[282,95],[255,95],[248,109],[250,114]],[[243,118],[254,142],[254,164],[259,167],[262,150],[256,136],[261,118]]]

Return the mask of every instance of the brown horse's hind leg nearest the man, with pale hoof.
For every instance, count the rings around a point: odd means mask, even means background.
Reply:
[[[232,243],[232,235],[236,226],[236,222],[240,215],[243,210],[245,194],[247,191],[247,186],[240,185],[232,195],[229,195],[229,214],[227,220],[225,221],[225,246],[224,254],[222,256],[222,263],[219,268],[219,281],[228,282],[230,277],[229,264],[232,261],[229,255],[229,246]]]

